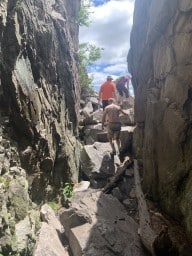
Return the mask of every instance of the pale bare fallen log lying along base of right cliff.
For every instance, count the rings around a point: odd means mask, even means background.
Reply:
[[[139,210],[139,236],[143,245],[151,253],[155,255],[154,252],[154,241],[157,237],[153,229],[151,228],[150,215],[147,208],[147,203],[145,201],[145,196],[143,194],[140,182],[140,175],[138,170],[137,160],[134,160],[134,177],[135,177],[135,191],[138,202]]]

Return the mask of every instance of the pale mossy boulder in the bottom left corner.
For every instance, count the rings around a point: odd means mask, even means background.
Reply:
[[[10,167],[0,178],[0,254],[32,255],[40,216],[28,194],[26,173]]]

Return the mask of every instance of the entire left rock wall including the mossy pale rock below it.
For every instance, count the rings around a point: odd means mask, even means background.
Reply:
[[[80,0],[0,0],[0,254],[32,255],[38,207],[78,179]]]

